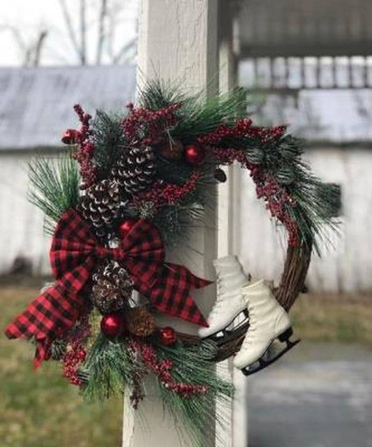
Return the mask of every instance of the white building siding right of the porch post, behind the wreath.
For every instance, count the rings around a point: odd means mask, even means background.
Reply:
[[[309,149],[306,159],[325,182],[341,184],[340,237],[322,257],[314,255],[306,284],[313,291],[372,289],[372,152],[368,149]],[[253,276],[281,277],[285,255],[283,232],[277,233],[251,179],[241,176],[241,258]]]

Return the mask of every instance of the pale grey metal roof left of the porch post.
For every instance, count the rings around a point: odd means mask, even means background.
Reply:
[[[134,92],[134,66],[0,68],[0,149],[59,146],[75,103],[117,111]]]

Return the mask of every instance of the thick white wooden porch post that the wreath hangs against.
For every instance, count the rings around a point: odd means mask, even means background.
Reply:
[[[213,95],[218,90],[218,0],[142,0],[138,42],[139,87],[146,80],[175,80],[191,92],[204,89]],[[213,210],[213,203],[212,203]],[[170,254],[200,277],[213,278],[212,261],[216,258],[216,217],[211,212],[204,228],[188,241],[190,249]],[[214,302],[213,287],[197,291],[196,301],[204,314]],[[172,318],[164,324],[184,332],[195,326]],[[151,381],[150,381],[151,382]],[[140,404],[141,413],[124,402],[123,447],[177,447],[179,438],[172,416],[163,411],[156,388]],[[140,411],[140,410],[138,410]],[[205,427],[206,437],[214,437],[214,427]]]

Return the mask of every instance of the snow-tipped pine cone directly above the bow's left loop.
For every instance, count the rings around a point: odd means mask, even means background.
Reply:
[[[122,205],[119,194],[119,184],[114,180],[101,180],[87,189],[80,198],[77,211],[82,217],[98,229],[98,235],[105,227],[110,226],[118,217]]]

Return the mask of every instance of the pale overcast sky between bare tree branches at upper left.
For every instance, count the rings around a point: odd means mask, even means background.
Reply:
[[[137,15],[137,0],[110,0],[125,4],[118,17],[116,49],[135,36],[135,17]],[[109,1],[109,3],[110,3]],[[77,0],[67,0],[68,6],[78,17]],[[87,0],[89,5],[89,44],[93,51],[98,14],[98,0]],[[47,29],[47,44],[43,52],[43,65],[74,64],[75,54],[66,34],[66,27],[61,15],[58,0],[1,0],[0,1],[0,65],[19,66],[22,62],[22,51],[8,27],[14,27],[20,32],[24,41],[36,39],[41,29]]]

